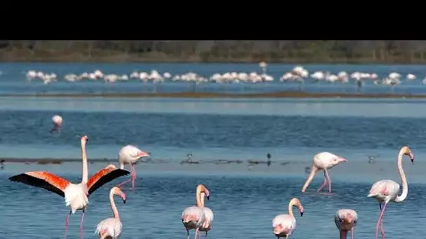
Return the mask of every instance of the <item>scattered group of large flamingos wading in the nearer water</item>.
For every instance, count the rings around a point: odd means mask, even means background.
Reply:
[[[60,115],[55,115],[53,117],[53,131],[60,131],[60,126],[62,124],[62,117]],[[129,175],[129,171],[124,170],[125,164],[130,164],[131,177],[124,182],[121,182],[116,187],[113,187],[109,194],[109,200],[111,203],[111,208],[114,213],[114,217],[104,219],[102,222],[99,222],[97,225],[96,233],[99,235],[99,238],[119,238],[123,229],[123,224],[120,221],[120,216],[116,208],[116,203],[114,202],[114,196],[120,196],[125,203],[126,195],[121,190],[121,185],[126,182],[132,181],[132,189],[135,189],[135,179],[136,171],[134,164],[137,163],[139,159],[144,157],[150,157],[149,153],[139,150],[137,147],[132,145],[126,145],[121,148],[118,152],[118,163],[119,168],[116,168],[114,164],[109,164],[107,167],[102,168],[100,171],[88,178],[88,159],[86,156],[85,145],[88,141],[88,136],[81,137],[81,158],[83,161],[83,173],[82,180],[78,184],[74,184],[60,178],[57,175],[48,173],[46,171],[32,171],[27,173],[22,173],[15,175],[9,180],[14,182],[22,182],[24,184],[32,185],[34,187],[41,187],[48,191],[52,191],[55,194],[62,196],[65,199],[65,205],[69,206],[70,211],[67,215],[65,222],[65,239],[67,238],[67,230],[69,226],[69,216],[74,214],[77,210],[81,210],[81,224],[80,224],[80,237],[83,238],[83,219],[85,215],[85,210],[89,203],[90,194],[94,193],[99,187],[110,182],[116,178],[119,178],[124,175]],[[404,201],[408,195],[408,183],[402,168],[402,157],[407,155],[411,162],[414,161],[413,152],[411,152],[408,146],[401,147],[399,150],[397,167],[398,173],[401,177],[402,182],[402,194],[399,193],[399,184],[392,180],[380,180],[373,184],[367,197],[376,198],[379,203],[380,216],[376,225],[376,239],[378,238],[378,231],[380,229],[382,239],[385,238],[385,229],[383,229],[383,213],[387,203],[390,201],[395,203],[400,203]],[[329,169],[334,166],[346,162],[347,160],[343,157],[337,156],[336,154],[331,154],[330,152],[320,152],[316,154],[313,158],[312,169],[308,179],[303,185],[301,191],[305,192],[308,189],[310,182],[315,177],[315,174],[318,171],[324,171],[324,181],[320,189],[321,191],[326,185],[328,185],[329,194],[331,194],[331,180],[329,177]],[[195,229],[195,239],[200,238],[200,233],[205,232],[205,238],[207,238],[207,233],[212,229],[213,223],[213,212],[209,208],[205,207],[205,198],[209,200],[209,190],[202,184],[199,184],[196,188],[195,198],[196,205],[186,208],[181,215],[181,221],[184,224],[186,229],[187,238],[189,239],[189,231]],[[273,234],[277,237],[289,238],[291,234],[296,229],[296,217],[294,217],[293,206],[298,208],[303,216],[304,208],[298,198],[292,198],[288,206],[288,214],[277,215],[272,221]],[[351,237],[353,239],[353,231],[355,226],[357,226],[358,215],[355,210],[351,209],[341,209],[336,212],[334,217],[334,222],[338,230],[340,231],[340,238],[345,239],[348,237],[348,232],[351,232]]]

